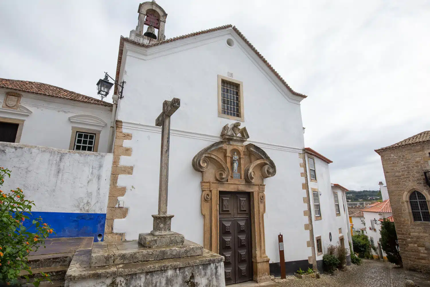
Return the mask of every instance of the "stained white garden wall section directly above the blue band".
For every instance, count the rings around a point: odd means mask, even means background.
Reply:
[[[3,189],[22,188],[32,211],[106,213],[112,157],[0,142],[0,166],[12,170]]]

